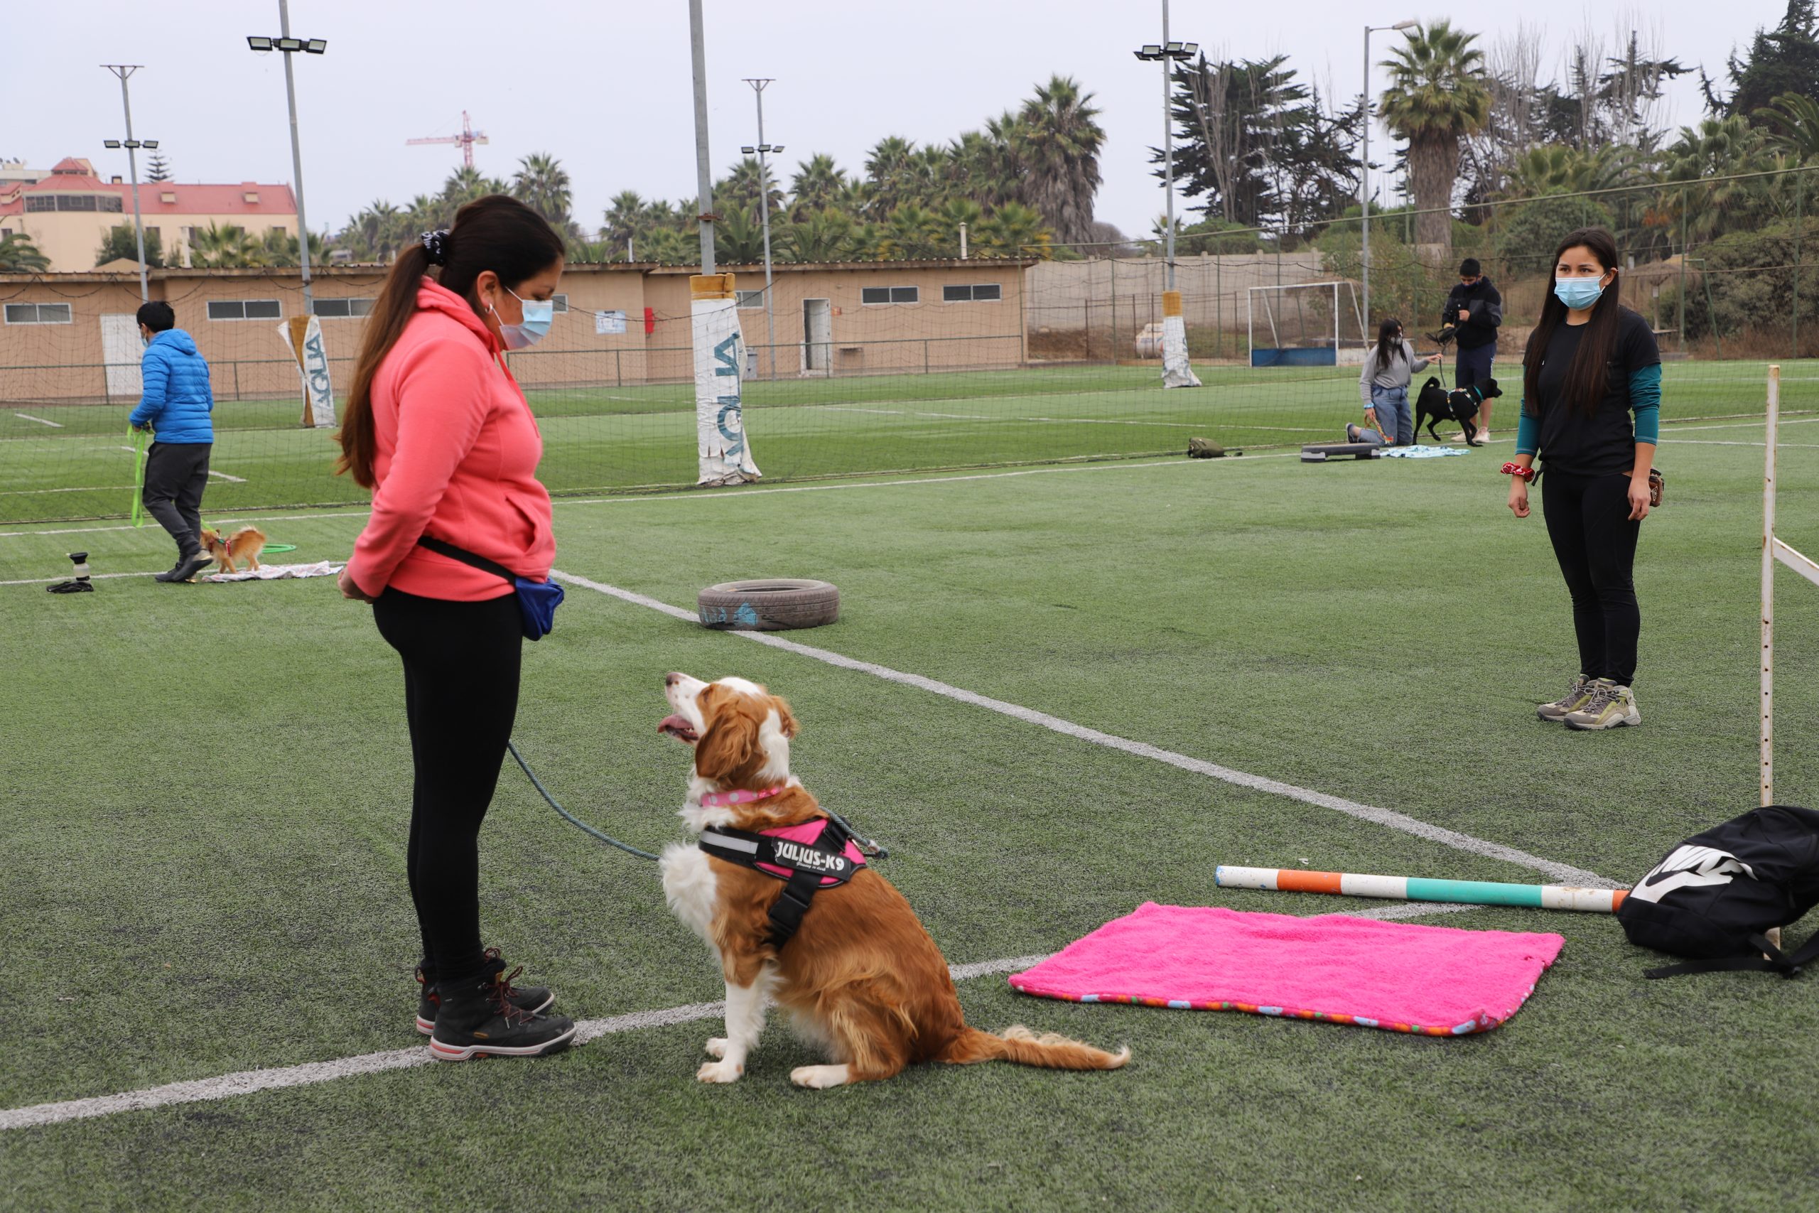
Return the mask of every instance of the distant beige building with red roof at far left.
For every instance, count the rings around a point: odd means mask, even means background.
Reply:
[[[33,175],[22,167],[0,176],[0,236],[24,235],[55,273],[93,267],[107,229],[133,222],[133,185],[120,176],[102,180],[87,160],[62,160],[36,180],[27,176]],[[253,240],[273,231],[296,235],[296,198],[289,185],[140,182],[138,207],[147,240],[156,233],[171,266],[189,264],[195,233],[211,224],[244,227]]]

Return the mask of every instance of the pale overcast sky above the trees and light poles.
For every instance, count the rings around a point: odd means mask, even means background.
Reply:
[[[1161,142],[1161,67],[1131,49],[1161,36],[1161,4],[1082,0],[706,0],[708,107],[715,173],[757,142],[742,76],[775,76],[764,95],[766,136],[782,144],[784,180],[799,156],[828,151],[849,171],[884,135],[948,140],[1017,105],[1050,73],[1097,95],[1106,145],[1099,218],[1146,231],[1162,211],[1148,176]],[[1666,55],[1719,73],[1724,55],[1784,0],[1655,0],[1637,18]],[[246,35],[276,35],[276,0],[64,0],[7,5],[0,60],[0,156],[49,167],[87,156],[126,175],[120,89],[102,62],[144,64],[133,76],[133,124],[162,140],[182,182],[289,182],[284,64],[255,55]],[[1233,58],[1286,53],[1302,76],[1359,91],[1362,24],[1442,16],[1397,0],[1344,4],[1206,4],[1175,0],[1171,35]],[[1519,25],[1559,64],[1590,25],[1613,44],[1617,5],[1584,0],[1452,5],[1490,47]],[[1628,22],[1637,24],[1637,22]],[[588,229],[620,189],[695,193],[686,0],[291,0],[291,31],[327,38],[298,55],[296,105],[309,226],[338,229],[375,198],[433,193],[460,164],[457,147],[406,147],[451,135],[462,109],[491,144],[475,164],[509,176],[549,151],[575,182]],[[1373,35],[1373,60],[1401,35]],[[1382,73],[1375,73],[1375,89]],[[1699,116],[1693,78],[1673,85],[1664,120]],[[1373,153],[1379,144],[1373,136]],[[1386,144],[1384,149],[1388,151]],[[1388,156],[1373,155],[1379,164]]]

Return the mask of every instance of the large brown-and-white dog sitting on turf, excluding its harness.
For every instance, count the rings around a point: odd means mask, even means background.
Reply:
[[[673,713],[658,726],[695,747],[682,820],[762,833],[826,818],[789,773],[789,706],[744,678],[664,678]],[[775,789],[775,791],[773,791]],[[762,798],[729,793],[760,793]],[[702,800],[709,806],[704,806]],[[1130,1049],[1106,1053],[1059,1035],[1010,1028],[1002,1037],[968,1028],[948,964],[910,902],[869,866],[840,887],[813,897],[793,938],[769,942],[769,907],[784,882],[708,855],[669,846],[664,897],[720,958],[726,977],[726,1037],[708,1040],[697,1078],[737,1082],[764,1029],[766,1000],[782,1004],[799,1033],[828,1049],[831,1066],[799,1066],[804,1088],[889,1078],[910,1062],[1010,1060],[1055,1069],[1117,1069]]]

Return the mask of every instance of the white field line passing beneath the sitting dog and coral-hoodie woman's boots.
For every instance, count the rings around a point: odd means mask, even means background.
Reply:
[[[1353,918],[1417,918],[1421,915],[1444,915],[1461,909],[1482,909],[1482,906],[1455,906],[1452,902],[1399,902],[1379,906],[1352,915]],[[953,980],[964,982],[973,977],[991,973],[1015,973],[1044,960],[1046,957],[1008,957],[1004,960],[980,960],[975,964],[950,964]],[[668,1028],[669,1024],[693,1024],[704,1018],[719,1018],[726,1013],[724,1002],[689,1002],[678,1007],[657,1011],[633,1011],[609,1018],[584,1018],[577,1024],[575,1044],[588,1044],[600,1037],[613,1037],[644,1028]],[[29,1129],[44,1124],[64,1124],[67,1120],[91,1120],[111,1117],[118,1111],[146,1111],[167,1108],[171,1104],[202,1104],[207,1100],[233,1098],[235,1095],[253,1095],[256,1091],[278,1091],[284,1088],[313,1086],[333,1082],[335,1078],[355,1078],[358,1075],[378,1075],[387,1069],[413,1069],[417,1066],[435,1066],[427,1046],[411,1049],[386,1049],[384,1053],[360,1053],[358,1057],[338,1057],[327,1062],[302,1062],[300,1066],[282,1066],[278,1069],[242,1069],[215,1078],[191,1078],[189,1082],[166,1082],[156,1088],[122,1091],[118,1095],[96,1095],[91,1098],[71,1098],[55,1104],[31,1104],[27,1108],[7,1108],[0,1111],[0,1133],[7,1129]]]

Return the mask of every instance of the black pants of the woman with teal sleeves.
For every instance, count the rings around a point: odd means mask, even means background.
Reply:
[[[1630,476],[1550,471],[1541,478],[1541,511],[1573,598],[1579,673],[1632,686],[1643,633],[1632,571],[1643,524],[1630,520]]]

